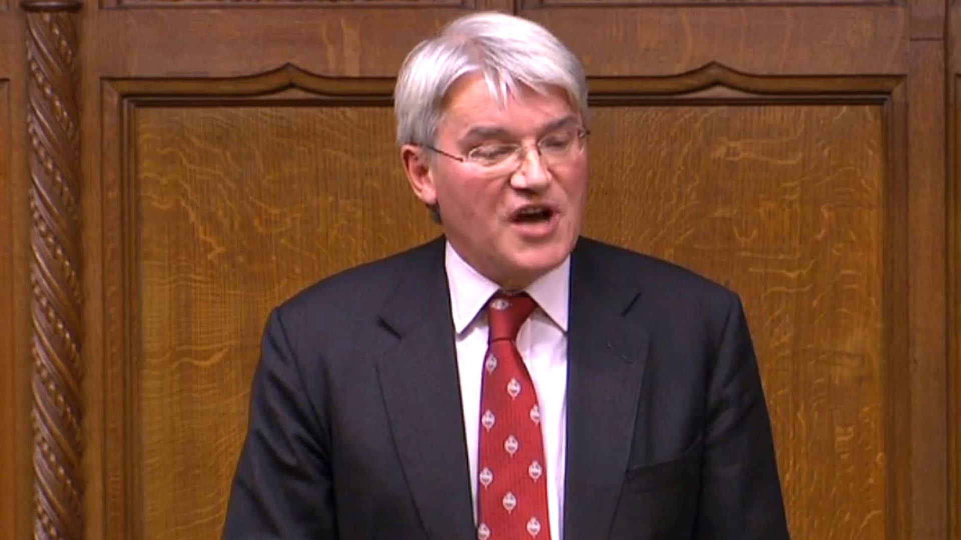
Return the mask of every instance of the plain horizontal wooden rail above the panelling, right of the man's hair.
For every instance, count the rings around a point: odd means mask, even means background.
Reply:
[[[907,68],[906,12],[897,6],[712,4],[538,8],[520,14],[577,51],[589,75],[671,76],[712,61],[755,75],[886,74]]]

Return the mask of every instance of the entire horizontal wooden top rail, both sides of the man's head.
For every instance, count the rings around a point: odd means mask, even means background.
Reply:
[[[411,47],[466,13],[343,7],[335,15],[312,16],[322,11],[306,11],[240,5],[105,10],[89,38],[103,51],[98,60],[104,77],[240,76],[285,62],[329,76],[393,77]],[[901,74],[908,65],[905,11],[896,6],[598,6],[520,14],[561,37],[594,76],[676,75],[711,61],[759,75]],[[170,28],[178,29],[176,39]],[[216,39],[210,37],[213,28]],[[371,29],[382,31],[368,37]],[[257,54],[236,54],[246,49]]]

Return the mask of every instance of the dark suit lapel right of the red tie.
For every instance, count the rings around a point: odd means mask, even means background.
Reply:
[[[564,537],[607,538],[634,436],[648,334],[625,316],[636,286],[581,240],[571,264]]]

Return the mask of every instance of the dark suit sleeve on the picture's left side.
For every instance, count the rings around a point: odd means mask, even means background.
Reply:
[[[280,311],[267,322],[223,537],[336,537],[329,433],[305,390]]]

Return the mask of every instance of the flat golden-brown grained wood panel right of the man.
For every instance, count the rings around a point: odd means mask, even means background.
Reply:
[[[588,233],[744,298],[794,537],[886,538],[881,107],[610,107],[592,131]]]

